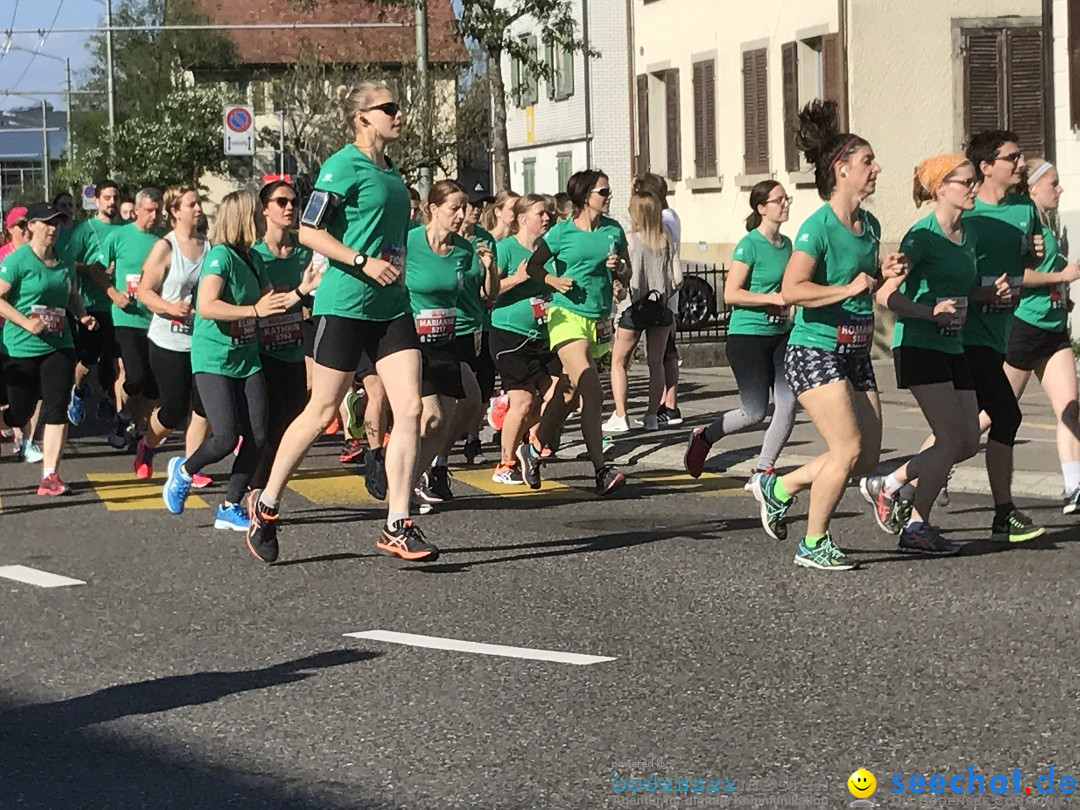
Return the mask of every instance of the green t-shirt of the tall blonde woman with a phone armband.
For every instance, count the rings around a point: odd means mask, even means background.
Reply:
[[[323,163],[315,190],[341,198],[326,232],[365,256],[405,267],[408,189],[397,167],[380,168],[352,144]],[[408,313],[408,289],[400,279],[382,286],[351,265],[330,260],[319,283],[314,315],[393,321]]]

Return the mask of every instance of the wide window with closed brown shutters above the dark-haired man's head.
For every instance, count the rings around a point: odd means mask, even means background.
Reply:
[[[1042,28],[966,28],[961,33],[964,140],[984,130],[1012,130],[1027,154],[1042,154]]]

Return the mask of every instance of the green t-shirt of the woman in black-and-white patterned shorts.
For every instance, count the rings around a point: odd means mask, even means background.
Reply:
[[[840,286],[859,273],[878,276],[881,226],[869,212],[862,211],[861,216],[863,233],[855,235],[825,203],[799,228],[794,249],[814,260],[814,284]],[[840,353],[868,352],[873,337],[874,297],[866,293],[828,307],[799,307],[788,343]]]

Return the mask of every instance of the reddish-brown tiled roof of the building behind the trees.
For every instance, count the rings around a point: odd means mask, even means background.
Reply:
[[[245,65],[289,65],[305,43],[327,62],[400,64],[416,58],[411,8],[386,8],[366,0],[322,0],[303,10],[291,0],[194,0],[211,23],[405,23],[401,28],[232,30],[237,56]],[[450,0],[428,2],[428,57],[433,63],[468,63],[469,53],[450,27]]]

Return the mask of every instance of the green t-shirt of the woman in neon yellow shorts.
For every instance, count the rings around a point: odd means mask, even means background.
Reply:
[[[553,293],[551,305],[591,319],[611,315],[611,271],[607,257],[626,249],[626,234],[616,220],[602,216],[591,231],[572,219],[556,222],[542,241],[555,259],[555,275],[573,279],[568,293]]]

